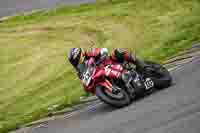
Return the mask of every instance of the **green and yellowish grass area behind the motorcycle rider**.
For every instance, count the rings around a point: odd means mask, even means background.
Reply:
[[[162,63],[200,41],[199,0],[103,1],[0,21],[0,132],[80,101],[70,47],[134,48]]]

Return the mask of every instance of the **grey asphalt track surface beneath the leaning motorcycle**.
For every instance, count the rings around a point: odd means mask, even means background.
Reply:
[[[172,87],[128,107],[98,103],[17,133],[199,133],[200,58],[171,74]]]

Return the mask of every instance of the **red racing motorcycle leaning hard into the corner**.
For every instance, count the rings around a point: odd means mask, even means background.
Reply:
[[[102,64],[94,62],[94,59],[90,58],[83,63],[83,86],[101,101],[114,107],[127,106],[138,95],[153,88],[167,88],[172,82],[169,71],[151,61],[145,61],[147,66],[144,70],[137,70],[130,63],[120,64],[109,60]],[[127,82],[116,78],[122,74],[125,78],[130,76]]]

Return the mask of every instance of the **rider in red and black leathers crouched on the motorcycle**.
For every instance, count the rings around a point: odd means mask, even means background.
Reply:
[[[136,56],[133,55],[131,52],[129,52],[128,49],[122,49],[122,48],[114,49],[112,51],[111,56],[109,56],[107,48],[91,48],[88,51],[83,51],[81,48],[71,48],[68,53],[68,60],[78,72],[78,76],[80,79],[81,79],[81,72],[80,72],[81,64],[84,61],[84,59],[89,59],[90,57],[94,57],[96,61],[104,60],[107,57],[117,63],[124,63],[125,61],[127,61],[135,64],[136,68],[141,70],[144,69],[145,67],[145,63],[139,58],[136,58]],[[122,74],[121,77],[119,78],[121,78],[125,83],[130,83],[131,82],[130,78],[134,74],[133,73]],[[142,85],[139,84],[138,87],[141,87]],[[131,88],[131,85],[127,84],[127,87]]]

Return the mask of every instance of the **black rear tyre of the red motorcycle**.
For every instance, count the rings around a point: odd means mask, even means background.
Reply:
[[[152,73],[149,71],[147,73],[153,78],[156,89],[163,89],[171,86],[172,77],[165,67],[152,61],[145,61],[145,63],[153,70]]]

